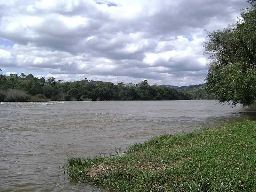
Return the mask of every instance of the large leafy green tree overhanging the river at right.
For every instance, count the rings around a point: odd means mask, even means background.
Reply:
[[[212,62],[206,92],[221,103],[251,105],[256,102],[256,6],[241,12],[241,19],[221,31],[208,33],[205,53]]]

